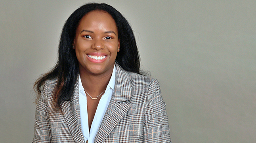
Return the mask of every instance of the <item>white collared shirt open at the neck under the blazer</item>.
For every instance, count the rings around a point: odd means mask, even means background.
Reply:
[[[112,94],[114,92],[115,77],[116,77],[116,66],[114,66],[106,91],[99,100],[99,104],[97,106],[96,113],[94,115],[94,119],[92,121],[91,129],[89,132],[86,94],[84,92],[84,87],[82,86],[81,78],[79,76],[79,105],[80,105],[81,126],[82,126],[84,139],[88,140],[88,143],[94,143],[94,139],[99,130],[99,126],[102,122],[102,119],[105,115],[105,112],[111,100]]]

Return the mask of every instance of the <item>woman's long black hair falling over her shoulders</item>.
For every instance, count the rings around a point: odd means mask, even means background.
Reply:
[[[79,74],[78,60],[75,50],[72,49],[76,28],[86,13],[94,10],[106,11],[116,22],[120,51],[117,53],[116,62],[126,71],[141,74],[139,71],[139,52],[133,30],[123,15],[107,4],[88,3],[76,9],[65,22],[59,41],[58,61],[51,71],[42,75],[34,84],[38,93],[36,102],[42,92],[42,87],[47,79],[57,77],[54,99],[57,107],[63,101],[69,101],[74,92],[74,86]]]

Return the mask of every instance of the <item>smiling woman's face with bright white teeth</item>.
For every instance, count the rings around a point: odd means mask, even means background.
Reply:
[[[119,47],[118,30],[111,15],[105,11],[87,13],[76,29],[74,41],[80,74],[111,74]]]

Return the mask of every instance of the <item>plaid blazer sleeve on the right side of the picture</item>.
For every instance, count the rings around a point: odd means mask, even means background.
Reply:
[[[144,143],[171,143],[170,127],[162,99],[159,82],[153,79],[149,85],[145,103]]]

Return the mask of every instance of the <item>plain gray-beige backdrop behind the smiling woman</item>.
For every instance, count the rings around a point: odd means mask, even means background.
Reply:
[[[0,142],[31,142],[32,85],[57,59],[61,28],[86,0],[0,0]],[[100,0],[134,29],[174,143],[256,142],[255,0]]]

